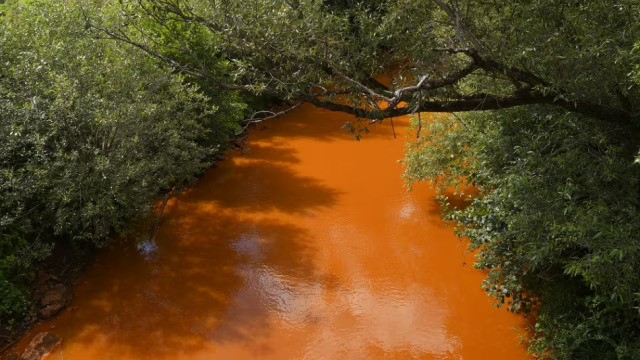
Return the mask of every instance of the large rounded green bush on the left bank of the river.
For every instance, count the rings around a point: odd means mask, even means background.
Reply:
[[[14,319],[33,265],[56,243],[101,246],[126,233],[224,150],[244,105],[89,36],[83,12],[115,21],[117,5],[1,6],[0,318]]]

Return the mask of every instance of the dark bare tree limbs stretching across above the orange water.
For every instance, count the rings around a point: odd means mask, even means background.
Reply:
[[[190,8],[184,8],[181,6],[179,0],[150,0],[151,6],[158,6],[162,8],[162,11],[166,11],[167,18],[177,18],[179,21],[187,23],[198,23],[201,26],[207,27],[210,31],[224,33],[217,24],[213,24],[208,20],[199,17],[193,13]],[[552,84],[545,81],[545,79],[535,75],[534,73],[525,69],[519,69],[512,66],[507,66],[500,63],[497,60],[487,58],[487,55],[482,49],[482,45],[473,36],[469,28],[464,24],[459,14],[457,7],[451,8],[443,0],[434,0],[434,2],[451,17],[457,26],[459,31],[469,41],[474,48],[449,48],[449,49],[435,49],[435,51],[442,51],[449,54],[464,54],[468,57],[469,62],[461,69],[454,71],[442,78],[432,78],[429,75],[422,75],[418,78],[415,85],[402,87],[395,90],[385,89],[382,84],[367,79],[364,82],[358,81],[348,74],[344,74],[337,68],[331,66],[328,62],[316,62],[314,59],[304,59],[309,65],[313,65],[316,68],[314,70],[321,70],[330,78],[338,80],[343,83],[344,88],[339,90],[347,90],[351,94],[361,95],[365,98],[367,107],[360,107],[359,105],[348,105],[340,103],[338,101],[331,101],[328,98],[329,91],[322,88],[320,85],[313,85],[309,83],[295,83],[295,86],[288,86],[286,83],[286,74],[284,79],[276,78],[265,69],[256,68],[257,71],[267,73],[271,75],[273,80],[279,81],[283,84],[282,87],[273,87],[270,85],[271,80],[267,83],[267,91],[271,94],[280,96],[281,98],[293,98],[303,100],[314,104],[315,106],[326,108],[333,111],[346,112],[355,115],[360,118],[372,119],[374,122],[382,121],[385,118],[407,115],[415,112],[463,112],[463,111],[475,111],[475,110],[495,110],[503,109],[514,106],[531,105],[531,104],[553,104],[561,106],[569,111],[582,113],[587,116],[595,117],[605,121],[609,121],[617,124],[625,124],[626,126],[638,126],[638,114],[632,113],[629,109],[618,109],[606,105],[596,104],[587,100],[576,100],[575,97],[567,96],[562,89],[553,88]],[[144,5],[140,5],[144,7]],[[144,9],[147,12],[153,13],[154,9]],[[109,39],[122,41],[131,46],[134,46],[148,55],[168,64],[176,71],[195,76],[206,78],[211,83],[221,90],[239,90],[245,92],[255,92],[255,85],[252,86],[249,80],[245,79],[245,84],[238,83],[225,83],[219,77],[214,76],[209,69],[200,66],[190,66],[189,64],[180,63],[177,60],[163,55],[161,52],[154,50],[148,44],[140,43],[122,30],[110,30],[107,28],[100,28],[89,22],[87,24]],[[464,46],[464,44],[463,44]],[[300,59],[293,58],[291,61],[297,61]],[[276,64],[278,65],[278,64]],[[318,68],[319,67],[319,68]],[[517,90],[512,94],[491,94],[491,93],[475,93],[470,95],[455,94],[443,97],[443,93],[451,94],[451,91],[438,91],[437,90],[455,90],[456,85],[467,79],[470,75],[473,75],[478,70],[481,70],[483,74],[488,74],[495,79],[503,79],[513,83]],[[240,81],[239,81],[240,82]],[[306,90],[299,90],[300,88]],[[279,90],[278,90],[279,89]],[[284,90],[283,90],[284,89]],[[324,89],[324,91],[318,92],[317,89]],[[423,98],[423,92],[426,94]],[[339,93],[344,93],[340,91]],[[416,93],[420,100],[416,103]],[[431,93],[431,94],[429,94]],[[437,94],[437,95],[435,95]],[[430,98],[431,96],[431,98]],[[568,100],[571,99],[571,100]],[[386,103],[385,108],[379,106],[380,102]],[[414,106],[400,107],[403,102],[412,103]],[[297,107],[297,106],[296,106]],[[290,111],[290,110],[289,110]],[[288,112],[288,111],[287,111]],[[273,114],[273,117],[280,116],[282,114]],[[271,115],[268,118],[272,118]]]

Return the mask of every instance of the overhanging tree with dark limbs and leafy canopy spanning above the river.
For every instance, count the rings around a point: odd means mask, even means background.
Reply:
[[[553,104],[635,133],[639,93],[630,74],[638,14],[636,0],[138,0],[122,16],[155,19],[171,41],[132,22],[110,29],[90,22],[221,89],[275,93],[374,122]],[[173,31],[176,23],[201,29],[216,45],[207,54],[192,51]],[[169,47],[189,56],[168,55]],[[207,66],[216,57],[230,62],[231,77]],[[375,81],[390,72],[391,87]]]

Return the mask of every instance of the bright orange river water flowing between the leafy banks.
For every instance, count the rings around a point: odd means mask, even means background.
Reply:
[[[427,184],[402,179],[407,119],[355,141],[305,105],[251,131],[120,242],[39,325],[48,359],[528,359],[526,321],[481,289]],[[147,244],[149,245],[149,244]]]

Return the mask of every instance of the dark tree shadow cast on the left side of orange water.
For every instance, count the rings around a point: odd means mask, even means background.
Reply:
[[[212,343],[268,352],[256,340],[269,335],[274,303],[288,296],[269,281],[332,280],[314,268],[306,230],[253,211],[303,213],[339,194],[283,165],[245,160],[224,162],[180,197],[155,252],[141,254],[131,243],[106,251],[79,286],[77,308],[59,319],[60,335],[134,358],[171,358]]]

